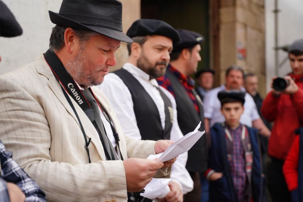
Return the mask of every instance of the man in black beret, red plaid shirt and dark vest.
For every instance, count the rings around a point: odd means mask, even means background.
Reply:
[[[203,37],[193,31],[178,30],[181,40],[174,43],[171,60],[165,76],[157,79],[158,84],[167,89],[177,104],[178,124],[183,134],[195,129],[201,121],[204,130],[203,104],[194,89],[194,80],[189,76],[197,71],[201,61],[199,51]],[[194,189],[185,194],[184,201],[200,202],[201,184],[199,174],[207,169],[207,149],[205,135],[188,151],[186,169],[194,181]]]

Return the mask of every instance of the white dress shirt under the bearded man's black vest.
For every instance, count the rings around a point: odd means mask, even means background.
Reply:
[[[177,121],[177,110],[175,98],[164,88],[158,85],[155,79],[149,80],[149,75],[136,66],[126,63],[123,68],[130,72],[143,86],[145,91],[155,102],[161,119],[161,125],[165,127],[165,112],[164,101],[156,87],[161,88],[165,95],[171,101],[173,108],[173,124],[171,128],[170,139],[176,141],[183,137]],[[122,79],[114,73],[105,76],[105,79],[99,88],[103,91],[106,97],[110,100],[118,120],[122,126],[125,135],[135,139],[141,139],[141,134],[137,125],[137,120],[134,112],[134,104],[132,95],[124,84]],[[144,104],[144,103],[142,103]],[[193,181],[185,168],[187,161],[187,152],[178,156],[177,161],[172,167],[171,179],[152,179],[145,187],[145,193],[142,196],[155,199],[163,198],[170,191],[168,182],[173,180],[181,185],[183,193],[187,193],[193,189]]]

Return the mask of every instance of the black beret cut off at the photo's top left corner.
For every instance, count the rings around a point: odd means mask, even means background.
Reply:
[[[22,28],[9,8],[0,0],[0,36],[14,37],[22,35]]]

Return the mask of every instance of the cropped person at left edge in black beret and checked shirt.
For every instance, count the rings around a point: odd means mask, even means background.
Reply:
[[[0,37],[22,35],[22,28],[2,1],[0,1],[0,13]],[[0,165],[0,201],[46,201],[44,192],[12,159],[12,152],[5,149],[2,141],[0,141]]]

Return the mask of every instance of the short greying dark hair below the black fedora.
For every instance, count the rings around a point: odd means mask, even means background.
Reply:
[[[49,38],[49,49],[53,52],[59,51],[64,46],[64,33],[67,26],[56,25],[52,29],[51,36]],[[72,28],[75,32],[75,35],[79,38],[80,42],[88,41],[91,36],[98,35],[98,33],[93,31],[86,31],[82,29]]]

